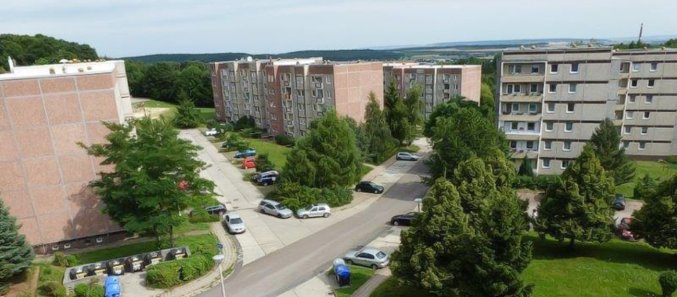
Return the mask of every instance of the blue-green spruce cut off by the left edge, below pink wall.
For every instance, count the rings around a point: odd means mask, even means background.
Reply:
[[[19,235],[17,219],[0,199],[0,287],[12,277],[24,274],[35,258],[26,236]]]

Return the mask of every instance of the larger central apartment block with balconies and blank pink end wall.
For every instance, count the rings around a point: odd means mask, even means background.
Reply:
[[[217,118],[235,122],[251,115],[271,135],[303,136],[329,108],[361,122],[370,92],[383,105],[380,62],[250,57],[210,66]]]

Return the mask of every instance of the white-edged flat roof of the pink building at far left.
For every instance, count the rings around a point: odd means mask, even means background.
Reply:
[[[98,62],[15,66],[10,69],[9,73],[0,74],[0,80],[113,73],[116,63],[124,62],[125,61],[123,60],[111,60]],[[51,74],[51,71],[53,71],[54,74]]]

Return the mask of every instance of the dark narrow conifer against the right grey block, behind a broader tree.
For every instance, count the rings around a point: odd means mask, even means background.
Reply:
[[[615,184],[625,184],[635,178],[635,164],[625,155],[625,148],[621,146],[620,131],[608,117],[595,129],[590,137],[590,143],[595,148],[599,163],[607,172],[611,173]]]

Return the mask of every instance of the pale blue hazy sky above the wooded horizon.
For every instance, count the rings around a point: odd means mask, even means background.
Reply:
[[[651,3],[651,6],[644,5]],[[101,56],[677,35],[675,0],[0,0],[0,33]]]

